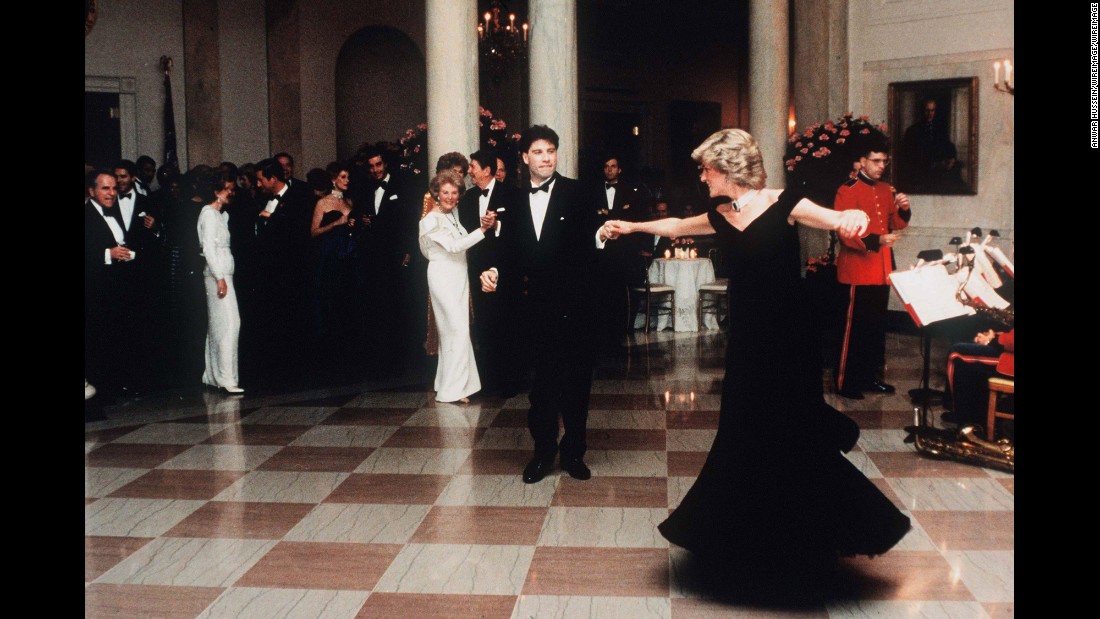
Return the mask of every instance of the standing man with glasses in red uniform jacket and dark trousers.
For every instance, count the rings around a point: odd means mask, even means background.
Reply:
[[[881,180],[890,163],[888,151],[884,139],[869,137],[859,150],[856,178],[837,189],[834,203],[838,211],[859,209],[870,219],[861,237],[840,239],[837,256],[837,279],[848,285],[849,294],[836,389],[856,400],[864,399],[864,391],[894,393],[878,377],[886,363],[887,276],[894,269],[898,231],[909,225],[912,213],[909,197]]]

